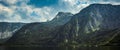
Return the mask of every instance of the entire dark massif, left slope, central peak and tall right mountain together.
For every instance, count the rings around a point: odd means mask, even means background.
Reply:
[[[107,45],[120,34],[119,14],[120,5],[91,4],[77,14],[67,15],[69,18],[62,14],[56,16],[50,22],[25,25],[6,44],[41,46]]]

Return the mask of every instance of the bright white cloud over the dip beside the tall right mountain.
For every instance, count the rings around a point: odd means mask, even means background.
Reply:
[[[60,3],[64,5],[63,9],[76,14],[93,3],[120,5],[120,0],[61,0]]]

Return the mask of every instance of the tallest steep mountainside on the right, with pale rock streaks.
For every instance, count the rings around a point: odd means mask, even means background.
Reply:
[[[120,31],[119,14],[120,5],[92,4],[74,15],[56,39],[60,45],[105,45]]]

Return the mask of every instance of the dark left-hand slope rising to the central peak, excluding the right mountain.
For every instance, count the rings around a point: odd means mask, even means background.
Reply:
[[[59,12],[52,21],[27,24],[15,32],[13,37],[8,40],[8,43],[25,45],[45,45],[47,43],[50,45],[52,43],[49,42],[56,36],[56,33],[53,34],[52,32],[54,30],[57,31],[60,26],[67,23],[71,19],[71,16],[71,13]]]

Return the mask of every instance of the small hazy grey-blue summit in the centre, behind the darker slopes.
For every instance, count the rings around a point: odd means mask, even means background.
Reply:
[[[52,25],[64,25],[71,19],[73,14],[69,12],[59,12],[54,19],[50,21]]]

